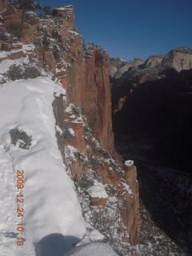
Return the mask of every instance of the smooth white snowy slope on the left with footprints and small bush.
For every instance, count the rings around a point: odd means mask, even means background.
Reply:
[[[34,256],[34,245],[50,234],[77,242],[86,234],[73,182],[66,174],[55,137],[54,90],[48,78],[8,82],[0,88],[0,251],[1,256]],[[58,91],[58,90],[57,90]],[[16,128],[32,135],[29,150],[14,146]],[[17,217],[16,171],[23,170],[19,193],[24,217]],[[17,246],[17,224],[24,223],[24,246]],[[19,234],[20,235],[20,234]]]

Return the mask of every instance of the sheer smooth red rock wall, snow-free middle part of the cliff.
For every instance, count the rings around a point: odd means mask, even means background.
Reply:
[[[109,59],[101,49],[90,47],[89,51],[78,56],[62,84],[67,85],[67,102],[82,109],[95,137],[113,153]]]

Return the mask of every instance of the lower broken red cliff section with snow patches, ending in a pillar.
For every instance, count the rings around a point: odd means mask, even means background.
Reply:
[[[61,112],[61,106],[64,112]],[[82,111],[55,98],[54,115],[59,127],[58,146],[78,192],[86,222],[106,236],[119,253],[127,254],[139,242],[137,171],[132,162],[115,162],[91,134]],[[87,193],[95,181],[104,185],[107,197]],[[124,244],[125,243],[125,244]]]

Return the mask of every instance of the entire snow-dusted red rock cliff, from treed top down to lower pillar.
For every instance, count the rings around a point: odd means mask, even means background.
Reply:
[[[122,165],[114,151],[108,55],[82,44],[74,28],[73,6],[38,18],[31,12],[23,16],[17,3],[2,3],[3,60],[36,62],[66,90],[56,94],[53,103],[63,162],[74,179],[86,222],[100,230],[115,250],[127,253],[128,243],[139,242],[138,183],[133,164]],[[97,182],[107,197],[87,192]]]

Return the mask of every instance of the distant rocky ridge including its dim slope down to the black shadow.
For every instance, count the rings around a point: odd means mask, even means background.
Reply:
[[[170,78],[182,70],[191,69],[192,50],[184,46],[175,48],[168,54],[150,56],[146,61],[134,59],[122,62],[121,59],[110,59],[114,112],[122,109],[122,102],[126,101],[126,96],[132,94],[138,85]]]

